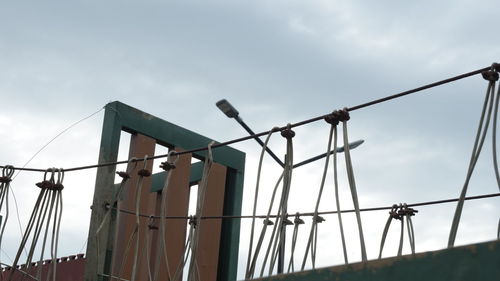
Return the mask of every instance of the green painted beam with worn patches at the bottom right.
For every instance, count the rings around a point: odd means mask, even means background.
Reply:
[[[500,241],[276,275],[269,281],[497,281]]]

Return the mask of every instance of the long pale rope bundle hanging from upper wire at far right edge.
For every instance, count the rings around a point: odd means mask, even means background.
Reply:
[[[498,95],[500,92],[500,87],[496,91],[496,101],[495,101],[495,84],[498,81],[499,75],[497,70],[495,69],[495,65],[491,67],[488,71],[482,72],[483,78],[488,81],[488,87],[486,89],[486,96],[484,98],[483,109],[481,112],[481,118],[479,120],[479,126],[477,128],[476,139],[474,141],[474,147],[472,148],[472,155],[469,162],[469,168],[467,170],[467,175],[465,177],[465,182],[462,187],[462,192],[460,193],[460,200],[458,201],[457,208],[455,209],[455,215],[453,216],[453,222],[450,229],[450,235],[448,238],[448,247],[453,247],[455,244],[455,239],[457,236],[458,225],[460,223],[460,218],[462,215],[462,210],[465,202],[465,196],[467,194],[467,188],[469,187],[469,181],[472,177],[472,173],[474,172],[474,168],[476,166],[477,160],[479,159],[479,154],[481,153],[481,149],[483,147],[486,133],[488,132],[489,123],[491,120],[491,115],[493,108],[495,109],[494,118],[493,118],[493,164],[495,168],[495,175],[497,179],[498,187],[500,188],[500,177],[498,174],[498,163],[496,158],[496,119],[498,116]],[[495,106],[493,107],[493,104]],[[499,225],[500,228],[500,225]],[[499,229],[500,232],[500,229]]]

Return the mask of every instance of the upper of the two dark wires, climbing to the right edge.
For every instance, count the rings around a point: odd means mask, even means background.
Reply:
[[[414,89],[411,89],[411,90],[407,90],[407,91],[404,91],[404,92],[400,92],[400,93],[397,93],[397,94],[389,95],[389,96],[386,96],[386,97],[383,97],[383,98],[380,98],[380,99],[372,100],[372,101],[369,101],[369,102],[366,102],[366,103],[363,103],[363,104],[355,105],[355,106],[352,106],[352,107],[347,107],[347,108],[345,108],[345,110],[347,110],[348,112],[355,111],[355,110],[358,110],[358,109],[362,109],[362,108],[365,108],[365,107],[369,107],[369,106],[372,106],[372,105],[376,105],[376,104],[379,104],[379,103],[383,103],[383,102],[386,102],[386,101],[397,99],[397,98],[400,98],[400,97],[403,97],[403,96],[407,96],[407,95],[410,95],[410,94],[421,92],[423,90],[427,90],[427,89],[434,88],[434,87],[437,87],[437,86],[441,86],[441,85],[444,85],[444,84],[447,84],[447,83],[451,83],[451,82],[454,82],[454,81],[457,81],[457,80],[461,80],[461,79],[464,79],[464,78],[467,78],[467,77],[471,77],[471,76],[474,76],[474,75],[477,75],[477,74],[481,74],[483,71],[488,71],[488,70],[491,70],[492,68],[495,69],[495,71],[499,71],[500,70],[500,64],[493,63],[491,66],[488,66],[488,67],[484,67],[484,68],[477,69],[477,70],[474,70],[474,71],[471,71],[471,72],[460,74],[460,75],[457,75],[457,76],[454,76],[454,77],[451,77],[451,78],[447,78],[447,79],[444,79],[444,80],[441,80],[441,81],[430,83],[430,84],[427,84],[427,85],[424,85],[424,86],[421,86],[421,87],[418,87],[418,88],[414,88]],[[321,116],[317,116],[317,117],[314,117],[314,118],[311,118],[311,119],[303,120],[303,121],[300,121],[300,122],[297,122],[297,123],[294,123],[294,124],[290,124],[290,126],[284,126],[284,127],[280,127],[280,128],[277,128],[277,129],[272,129],[271,131],[265,131],[265,132],[261,132],[261,133],[258,133],[258,134],[254,134],[254,135],[249,135],[249,136],[237,138],[237,139],[233,139],[233,140],[222,142],[222,143],[216,143],[216,144],[214,144],[212,146],[212,148],[215,149],[215,148],[218,148],[218,147],[223,147],[223,146],[227,146],[227,145],[230,145],[230,144],[234,144],[234,143],[246,141],[246,140],[249,140],[249,139],[254,139],[254,138],[257,138],[257,137],[265,136],[265,135],[269,134],[272,131],[275,131],[275,132],[276,131],[283,131],[283,130],[285,130],[287,128],[299,127],[299,126],[302,126],[302,125],[305,125],[305,124],[309,124],[309,123],[312,123],[312,122],[316,122],[316,121],[322,120],[322,119],[324,119],[325,117],[327,117],[329,115],[330,115],[330,113],[329,114],[325,114],[325,115],[321,115]],[[185,150],[185,151],[176,152],[175,155],[189,154],[189,153],[201,152],[201,151],[206,151],[206,150],[207,150],[207,147],[203,146],[203,147],[199,147],[199,148],[195,148],[195,149],[191,149],[191,150]],[[152,157],[148,158],[147,160],[158,159],[158,158],[165,158],[167,156],[168,156],[168,154],[161,154],[161,155],[152,156]],[[137,161],[137,162],[144,161],[144,159],[137,159],[135,161]],[[98,167],[114,166],[114,165],[118,165],[118,164],[125,164],[127,162],[128,162],[128,160],[116,161],[116,162],[108,162],[108,163],[101,163],[101,164],[94,164],[94,165],[87,165],[87,166],[80,166],[80,167],[75,167],[75,168],[64,169],[64,171],[65,172],[72,172],[72,171],[92,169],[92,168],[98,168]],[[3,168],[3,167],[4,166],[0,166],[0,168]],[[32,171],[32,172],[45,172],[46,171],[46,169],[26,168],[26,167],[23,167],[23,168],[14,167],[14,169],[15,170],[22,170],[22,171]]]

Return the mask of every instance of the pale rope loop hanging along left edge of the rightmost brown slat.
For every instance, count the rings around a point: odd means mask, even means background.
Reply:
[[[200,231],[201,231],[201,221],[200,218],[203,216],[203,207],[205,206],[205,194],[207,192],[208,178],[210,176],[210,170],[213,164],[212,155],[212,145],[214,141],[208,144],[208,153],[205,158],[205,163],[203,164],[203,173],[201,177],[201,182],[198,187],[198,198],[196,201],[196,215],[193,220],[193,236],[191,240],[191,262],[189,264],[189,281],[200,281],[200,272],[198,267],[198,243],[200,241]]]

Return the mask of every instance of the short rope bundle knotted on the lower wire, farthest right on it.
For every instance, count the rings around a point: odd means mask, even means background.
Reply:
[[[401,256],[403,253],[403,236],[404,236],[404,221],[406,219],[406,228],[408,231],[408,241],[410,243],[411,253],[415,254],[415,232],[413,230],[413,222],[411,217],[418,213],[417,210],[409,208],[408,205],[399,204],[392,205],[392,209],[389,211],[389,218],[384,227],[384,232],[382,233],[382,239],[380,241],[380,252],[378,258],[382,258],[382,251],[384,249],[385,240],[387,238],[387,234],[389,232],[389,227],[393,220],[401,221],[401,232],[399,236],[399,247],[398,247],[398,256]]]

